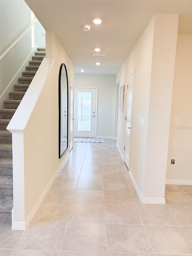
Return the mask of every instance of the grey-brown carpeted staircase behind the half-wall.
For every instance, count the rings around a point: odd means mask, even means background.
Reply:
[[[11,221],[13,208],[12,134],[6,128],[44,57],[45,48],[38,48],[18,78],[18,84],[14,84],[14,92],[9,92],[10,99],[4,101],[4,109],[0,109],[0,221]]]

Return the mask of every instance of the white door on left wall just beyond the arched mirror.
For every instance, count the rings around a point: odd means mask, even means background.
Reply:
[[[74,81],[70,79],[70,147],[71,150],[73,148],[73,127],[74,127],[74,117],[73,117],[73,98],[74,98]]]

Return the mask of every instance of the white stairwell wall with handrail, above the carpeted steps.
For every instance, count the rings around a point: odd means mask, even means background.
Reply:
[[[24,0],[0,2],[0,53],[5,50],[26,30],[31,24],[31,9]],[[35,26],[35,39],[39,47],[45,47],[45,39],[41,34],[41,24],[37,21]],[[29,65],[35,55],[35,45],[32,46],[32,30],[30,29],[0,62],[0,107],[4,108],[3,101],[9,99],[9,92],[14,91],[13,85],[22,77],[22,71]]]

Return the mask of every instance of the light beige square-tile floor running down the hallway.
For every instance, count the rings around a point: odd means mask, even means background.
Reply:
[[[192,186],[142,205],[115,144],[75,143],[27,230],[1,222],[0,255],[192,255]]]

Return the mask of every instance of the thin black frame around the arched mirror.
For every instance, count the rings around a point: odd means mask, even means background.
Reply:
[[[61,153],[61,71],[62,68],[65,68],[66,72],[66,78],[67,78],[67,147],[66,149]],[[67,76],[67,68],[64,63],[61,64],[60,70],[59,70],[59,159],[64,154],[64,152],[68,149],[68,113],[69,113],[69,92],[68,92],[68,76]]]

